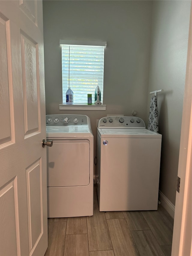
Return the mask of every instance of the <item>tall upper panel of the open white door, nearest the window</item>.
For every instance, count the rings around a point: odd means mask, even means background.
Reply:
[[[21,34],[25,136],[39,131],[38,44]]]

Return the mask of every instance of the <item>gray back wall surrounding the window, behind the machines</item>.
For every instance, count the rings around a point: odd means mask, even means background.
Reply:
[[[151,1],[43,1],[46,114],[90,117],[96,140],[96,119],[107,114],[146,119],[151,38]],[[106,111],[59,110],[62,104],[59,39],[107,41],[104,63]],[[146,120],[145,120],[146,121]]]

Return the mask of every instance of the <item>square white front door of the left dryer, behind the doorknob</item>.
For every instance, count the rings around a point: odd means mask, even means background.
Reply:
[[[47,148],[47,186],[88,185],[90,172],[89,140],[51,139],[53,146]]]

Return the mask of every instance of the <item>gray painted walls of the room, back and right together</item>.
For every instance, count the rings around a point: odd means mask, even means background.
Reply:
[[[153,2],[43,1],[46,114],[89,116],[95,142],[96,119],[107,114],[131,116],[137,110],[147,126],[149,92],[164,89],[158,95],[159,132],[163,134],[160,189],[174,204],[190,10],[186,1],[155,1],[154,7]],[[106,111],[59,110],[59,39],[107,41]]]

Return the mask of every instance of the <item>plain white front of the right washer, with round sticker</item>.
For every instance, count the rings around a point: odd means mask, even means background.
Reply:
[[[100,211],[157,209],[160,156],[161,139],[101,138]]]

